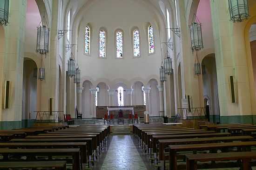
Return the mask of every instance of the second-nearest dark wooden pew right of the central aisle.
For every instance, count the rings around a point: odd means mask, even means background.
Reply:
[[[249,142],[227,142],[227,143],[209,143],[209,144],[190,144],[190,145],[169,145],[169,169],[178,170],[177,152],[181,151],[209,151],[217,149],[228,149],[233,147],[256,146],[256,141]]]

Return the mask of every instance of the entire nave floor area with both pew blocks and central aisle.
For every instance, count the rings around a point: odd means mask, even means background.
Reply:
[[[256,126],[38,123],[0,131],[0,170],[254,170]],[[124,128],[125,129],[125,128]]]

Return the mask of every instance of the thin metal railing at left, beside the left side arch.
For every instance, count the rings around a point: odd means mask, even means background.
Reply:
[[[34,111],[36,114],[35,122],[36,121],[43,121],[43,122],[59,122],[63,121],[64,119],[64,112],[63,111]]]

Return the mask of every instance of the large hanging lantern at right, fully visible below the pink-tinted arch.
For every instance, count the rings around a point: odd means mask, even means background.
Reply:
[[[196,18],[196,16],[195,16]],[[203,48],[202,43],[202,26],[201,23],[193,22],[190,26],[190,38],[192,50],[201,50]]]

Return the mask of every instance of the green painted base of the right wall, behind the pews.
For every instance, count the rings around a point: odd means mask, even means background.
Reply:
[[[256,124],[256,115],[221,116],[221,124],[226,123]]]

